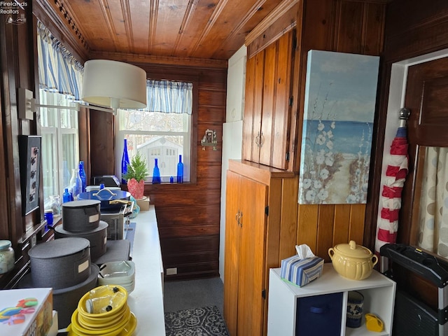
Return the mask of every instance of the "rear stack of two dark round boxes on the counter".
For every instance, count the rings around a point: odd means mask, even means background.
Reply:
[[[100,221],[98,200],[71,201],[62,204],[62,225],[55,227],[55,238],[81,237],[90,241],[90,255],[97,260],[106,253],[107,227]]]

